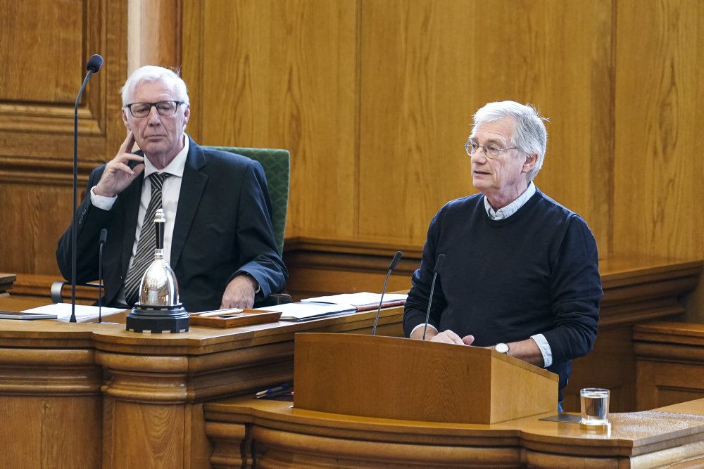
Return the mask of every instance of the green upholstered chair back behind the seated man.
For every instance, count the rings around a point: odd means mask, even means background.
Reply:
[[[289,150],[277,148],[243,148],[230,146],[209,146],[215,150],[246,156],[260,162],[266,174],[267,185],[271,195],[272,224],[279,255],[284,252],[284,233],[286,232],[286,213],[289,205],[290,153]]]

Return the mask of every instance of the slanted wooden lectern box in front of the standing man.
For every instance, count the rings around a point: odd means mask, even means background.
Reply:
[[[294,408],[491,424],[555,411],[558,375],[481,347],[296,334]]]

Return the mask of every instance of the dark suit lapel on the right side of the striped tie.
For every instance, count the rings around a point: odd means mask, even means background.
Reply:
[[[208,176],[200,172],[200,169],[205,165],[206,159],[203,155],[203,149],[191,139],[186,165],[183,169],[174,233],[171,239],[171,267],[173,269],[176,268],[181,257],[183,246],[191,229],[191,223],[201,203],[203,190],[206,188]]]

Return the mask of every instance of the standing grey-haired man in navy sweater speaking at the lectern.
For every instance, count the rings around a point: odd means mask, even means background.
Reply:
[[[544,120],[513,101],[474,114],[465,150],[480,193],[451,200],[432,219],[403,330],[558,373],[561,401],[572,359],[593,347],[603,292],[589,226],[533,182],[546,153]]]

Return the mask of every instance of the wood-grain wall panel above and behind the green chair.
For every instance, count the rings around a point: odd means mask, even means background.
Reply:
[[[183,15],[191,134],[210,145],[289,149],[289,236],[351,236],[356,2],[184,1]]]

